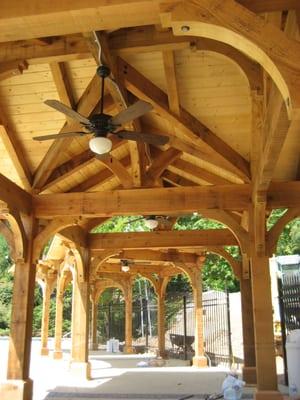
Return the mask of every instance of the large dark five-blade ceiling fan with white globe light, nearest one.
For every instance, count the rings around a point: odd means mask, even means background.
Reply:
[[[133,140],[136,142],[143,142],[153,145],[163,145],[169,141],[167,136],[154,135],[150,133],[141,133],[122,130],[122,125],[141,117],[147,112],[152,110],[152,105],[143,100],[138,100],[127,109],[121,111],[116,116],[111,116],[104,113],[104,85],[105,78],[110,75],[110,69],[106,65],[100,65],[97,68],[97,74],[102,80],[101,84],[101,100],[100,100],[100,113],[94,114],[89,118],[84,117],[77,111],[66,106],[58,100],[46,100],[45,104],[54,108],[57,111],[65,114],[69,118],[73,118],[80,122],[86,131],[83,132],[66,132],[54,135],[35,136],[34,140],[53,140],[64,139],[66,137],[78,137],[93,135],[94,137],[89,141],[91,151],[98,155],[106,154],[111,151],[112,142],[107,137],[108,134],[116,135],[120,139]]]

